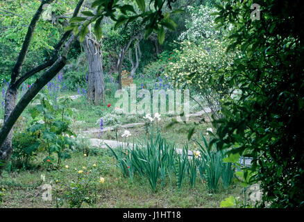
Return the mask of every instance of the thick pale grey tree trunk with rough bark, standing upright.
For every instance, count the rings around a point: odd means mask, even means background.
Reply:
[[[100,46],[90,34],[85,37],[82,43],[87,56],[87,67],[89,69],[87,81],[87,98],[92,103],[99,105],[100,101],[105,102],[105,83],[103,80],[103,64]]]

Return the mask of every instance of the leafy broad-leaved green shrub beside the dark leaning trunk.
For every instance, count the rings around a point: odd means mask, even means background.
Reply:
[[[47,94],[38,94],[37,99],[40,99],[40,104],[30,110],[33,121],[26,133],[35,135],[37,139],[33,148],[47,152],[44,164],[51,167],[55,161],[52,154],[56,153],[59,166],[62,160],[70,158],[69,151],[75,144],[71,137],[75,136],[71,130],[72,112],[66,108],[69,99],[61,98],[56,105]]]

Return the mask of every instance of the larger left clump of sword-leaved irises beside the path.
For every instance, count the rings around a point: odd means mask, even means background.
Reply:
[[[174,145],[167,144],[159,130],[156,133],[153,132],[153,125],[150,126],[150,132],[150,137],[147,137],[143,144],[135,144],[133,148],[126,144],[125,147],[121,145],[117,151],[114,151],[107,146],[112,151],[117,160],[117,167],[124,176],[130,176],[133,179],[134,173],[138,173],[146,177],[152,191],[156,191],[158,180],[161,179],[162,185],[165,185],[167,173],[170,174],[174,170],[174,158],[178,155],[176,155]]]

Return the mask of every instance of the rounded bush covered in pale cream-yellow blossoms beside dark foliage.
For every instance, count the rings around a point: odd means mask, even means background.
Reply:
[[[176,51],[176,62],[170,62],[164,76],[174,87],[190,89],[200,94],[217,115],[219,101],[229,93],[228,70],[236,53],[226,53],[226,44],[219,40],[204,40],[199,45],[188,40]]]

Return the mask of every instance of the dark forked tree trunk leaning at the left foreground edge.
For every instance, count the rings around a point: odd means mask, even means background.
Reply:
[[[74,10],[73,17],[78,15],[83,1],[84,0],[78,1],[78,5]],[[6,164],[12,155],[12,126],[14,126],[18,117],[20,114],[22,114],[28,103],[30,103],[37,93],[40,92],[44,85],[47,85],[47,83],[49,83],[49,81],[56,76],[56,74],[58,74],[63,67],[65,67],[67,62],[67,52],[69,51],[71,43],[75,40],[75,35],[71,35],[71,31],[65,32],[58,44],[56,44],[54,47],[52,56],[49,60],[35,67],[34,69],[31,69],[25,74],[22,74],[22,66],[24,65],[28,48],[31,44],[31,40],[33,39],[37,22],[39,21],[40,16],[42,15],[42,12],[46,6],[52,2],[53,0],[41,1],[39,8],[31,20],[31,24],[28,26],[28,31],[26,33],[26,37],[24,38],[22,49],[17,58],[17,62],[12,69],[12,73],[10,74],[10,84],[6,90],[5,97],[4,123],[0,130],[0,173],[2,172],[3,168],[6,167]],[[17,90],[19,86],[24,83],[26,79],[44,69],[46,69],[44,73],[37,77],[33,86],[28,89],[26,94],[24,94],[22,99],[20,99],[19,103],[16,105]]]

